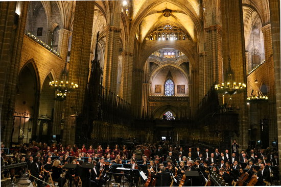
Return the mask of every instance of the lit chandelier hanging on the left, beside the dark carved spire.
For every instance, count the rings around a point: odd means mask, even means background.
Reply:
[[[49,86],[57,91],[57,99],[64,100],[66,98],[66,93],[70,93],[78,88],[75,83],[68,82],[68,70],[66,68],[67,62],[65,62],[64,69],[61,71],[59,81],[52,81]]]

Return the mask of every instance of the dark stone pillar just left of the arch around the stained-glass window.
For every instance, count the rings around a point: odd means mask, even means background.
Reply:
[[[144,70],[133,69],[133,86],[132,86],[132,115],[136,118],[141,117],[142,113],[142,89],[143,89]]]

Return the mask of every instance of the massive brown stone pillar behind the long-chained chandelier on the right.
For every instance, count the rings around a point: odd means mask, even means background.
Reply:
[[[237,83],[246,83],[242,2],[236,0],[221,0],[221,19],[222,48],[224,49],[222,50],[224,79],[226,78],[226,71],[228,68],[228,57],[230,57],[231,68],[234,72],[234,80]],[[246,99],[246,90],[232,97],[232,106],[237,109],[236,112],[239,114],[238,143],[240,145],[240,149],[246,149],[248,147],[249,140],[247,133],[245,133],[249,129]],[[225,100],[225,102],[227,101]]]

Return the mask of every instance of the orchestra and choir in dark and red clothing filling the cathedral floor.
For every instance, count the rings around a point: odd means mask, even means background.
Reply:
[[[53,144],[51,148],[44,145],[43,150],[40,150],[25,146],[23,152],[26,153],[15,151],[10,157],[2,151],[1,164],[27,162],[31,180],[38,186],[49,183],[50,174],[58,186],[66,182],[67,186],[76,186],[79,180],[82,186],[102,186],[112,182],[128,182],[129,185],[137,186],[141,183],[139,181],[145,186],[204,186],[212,184],[210,173],[218,174],[228,185],[233,185],[233,182],[237,185],[265,185],[265,182],[270,183],[279,176],[276,153],[267,155],[264,150],[253,149],[249,153],[244,150],[238,152],[237,143],[236,146],[232,144],[231,153],[228,149],[219,152],[217,148],[213,149],[214,152],[209,151],[211,148],[201,152],[199,146],[189,147],[186,151],[184,147],[172,145],[146,144],[132,146],[135,149],[131,149],[116,144],[112,147],[110,149],[107,145],[106,149],[102,149],[102,145],[98,145],[95,149],[90,145],[86,149],[82,145],[79,149],[76,145],[64,148]],[[74,167],[65,169],[69,164]],[[83,164],[88,164],[90,168],[85,168]],[[197,178],[190,176],[190,171],[197,172]],[[139,172],[146,177],[140,176]]]

